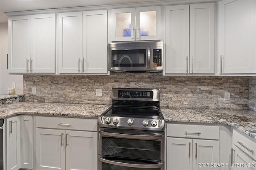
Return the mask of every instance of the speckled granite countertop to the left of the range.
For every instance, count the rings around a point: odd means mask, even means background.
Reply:
[[[37,103],[19,102],[0,106],[0,118],[13,115],[57,115],[71,117],[94,117],[102,114],[109,105],[98,104],[64,104],[64,103]]]

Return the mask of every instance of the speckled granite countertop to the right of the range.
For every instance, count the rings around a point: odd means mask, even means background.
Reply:
[[[246,109],[161,109],[165,121],[231,125],[256,139],[256,112]]]

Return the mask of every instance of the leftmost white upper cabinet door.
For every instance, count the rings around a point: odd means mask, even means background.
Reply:
[[[30,16],[9,17],[8,72],[26,73],[30,70]]]

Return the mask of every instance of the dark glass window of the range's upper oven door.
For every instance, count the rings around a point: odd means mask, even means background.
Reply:
[[[160,161],[160,151],[161,141],[102,137],[102,156]],[[120,159],[116,161],[119,162],[124,160]]]

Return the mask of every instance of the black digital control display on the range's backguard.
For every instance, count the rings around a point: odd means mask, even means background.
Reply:
[[[152,99],[152,91],[131,91],[131,90],[118,90],[118,98],[145,98]]]

